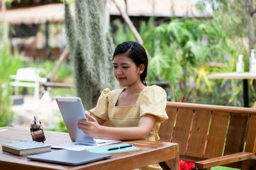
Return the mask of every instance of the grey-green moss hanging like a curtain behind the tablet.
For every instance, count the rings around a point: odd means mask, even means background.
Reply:
[[[70,45],[70,58],[75,68],[77,96],[84,108],[97,103],[100,91],[115,88],[116,81],[109,61],[113,53],[113,41],[104,31],[102,1],[77,0],[76,21],[65,2],[65,25]]]

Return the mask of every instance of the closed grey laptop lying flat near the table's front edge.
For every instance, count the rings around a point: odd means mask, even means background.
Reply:
[[[74,150],[57,150],[38,155],[31,155],[27,157],[30,160],[38,160],[42,162],[51,162],[57,164],[65,164],[70,166],[78,166],[97,160],[108,159],[110,154],[92,153]]]

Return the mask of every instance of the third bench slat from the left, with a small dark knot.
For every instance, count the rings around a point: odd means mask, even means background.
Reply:
[[[189,137],[188,156],[203,157],[210,120],[211,111],[195,111]]]

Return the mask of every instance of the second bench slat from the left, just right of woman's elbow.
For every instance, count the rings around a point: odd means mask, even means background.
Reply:
[[[188,146],[189,131],[191,127],[193,110],[179,109],[173,132],[173,142],[179,143],[179,153],[185,155]]]

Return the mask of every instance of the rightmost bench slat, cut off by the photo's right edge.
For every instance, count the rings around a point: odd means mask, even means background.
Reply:
[[[256,152],[256,115],[251,115],[244,152]]]

